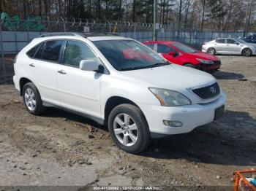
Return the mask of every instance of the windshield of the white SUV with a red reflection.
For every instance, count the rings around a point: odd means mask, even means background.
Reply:
[[[119,71],[147,69],[170,64],[156,52],[134,40],[101,40],[93,43]]]

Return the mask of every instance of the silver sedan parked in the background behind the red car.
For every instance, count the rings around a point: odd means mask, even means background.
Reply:
[[[256,55],[256,44],[245,42],[241,39],[222,38],[206,42],[202,47],[203,52],[211,55]]]

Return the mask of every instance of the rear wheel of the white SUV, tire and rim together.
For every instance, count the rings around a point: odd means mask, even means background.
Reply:
[[[29,82],[23,87],[23,103],[29,113],[39,115],[45,112],[45,106],[42,106],[41,96],[37,87]]]

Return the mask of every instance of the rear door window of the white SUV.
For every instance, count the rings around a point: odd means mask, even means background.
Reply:
[[[45,42],[45,50],[42,54],[42,59],[45,61],[58,62],[59,52],[63,42],[63,40],[51,40]]]

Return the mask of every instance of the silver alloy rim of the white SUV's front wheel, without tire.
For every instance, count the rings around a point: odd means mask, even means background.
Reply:
[[[118,114],[113,121],[116,138],[125,146],[132,146],[138,140],[138,127],[129,114]]]

